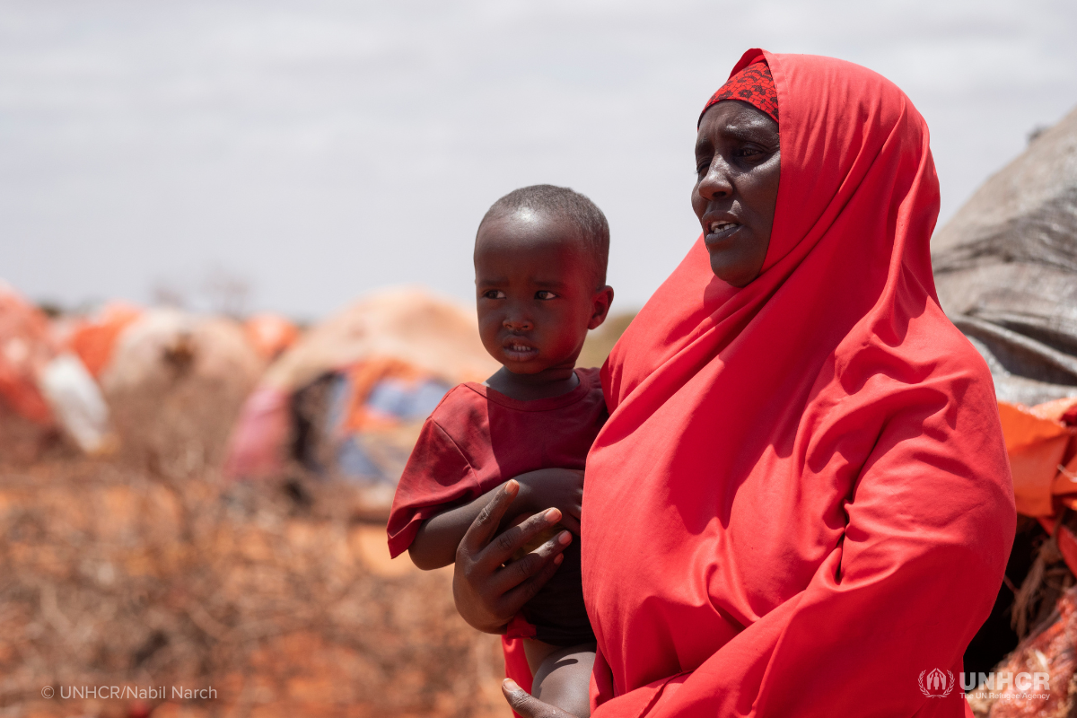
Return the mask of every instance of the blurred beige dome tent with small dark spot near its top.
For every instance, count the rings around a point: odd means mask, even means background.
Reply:
[[[265,362],[232,320],[148,310],[101,371],[123,449],[182,475],[218,464]]]

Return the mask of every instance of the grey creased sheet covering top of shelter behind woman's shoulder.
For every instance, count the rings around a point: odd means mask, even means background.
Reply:
[[[942,309],[998,398],[1077,395],[1077,110],[1033,139],[932,239]]]

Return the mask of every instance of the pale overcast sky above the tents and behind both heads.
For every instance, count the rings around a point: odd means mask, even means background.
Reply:
[[[890,78],[940,225],[1077,105],[1072,0],[0,0],[0,279],[310,320],[381,286],[471,301],[518,186],[610,220],[615,310],[699,234],[695,123],[750,47]]]

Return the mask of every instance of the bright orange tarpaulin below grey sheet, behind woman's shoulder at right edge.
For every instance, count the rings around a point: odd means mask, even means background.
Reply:
[[[998,403],[1017,510],[1052,517],[1077,508],[1077,397],[1034,407]]]

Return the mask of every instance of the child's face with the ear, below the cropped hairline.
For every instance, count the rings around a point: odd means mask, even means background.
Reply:
[[[479,334],[514,374],[575,364],[610,308],[612,290],[593,284],[576,229],[561,217],[520,210],[491,217],[475,238]]]

